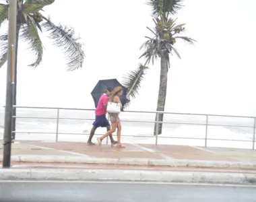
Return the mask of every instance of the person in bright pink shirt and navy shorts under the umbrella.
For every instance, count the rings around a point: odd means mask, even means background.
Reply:
[[[110,92],[112,91],[112,88],[107,88],[106,90],[104,90],[102,96],[100,96],[100,100],[98,101],[98,105],[95,110],[96,118],[94,123],[92,124],[93,127],[90,131],[90,137],[87,141],[88,145],[95,145],[94,143],[92,143],[92,137],[94,137],[94,133],[98,127],[106,127],[107,131],[110,131],[110,124],[108,123],[108,119],[106,119],[106,106],[108,104],[108,94],[110,94]],[[109,137],[111,145],[115,145],[117,141],[113,139],[112,133],[110,133]]]

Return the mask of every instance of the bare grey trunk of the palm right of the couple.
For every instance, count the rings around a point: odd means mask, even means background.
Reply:
[[[157,111],[164,111],[165,100],[166,100],[166,90],[167,90],[167,73],[168,73],[168,57],[161,57],[161,72],[160,72],[160,83],[159,83],[159,91],[158,91],[158,106],[156,108]],[[159,114],[158,120],[163,121],[163,119],[164,119],[164,114]],[[158,124],[158,131],[156,128],[156,123],[155,123],[154,135],[160,135],[160,134],[162,134],[162,123]]]

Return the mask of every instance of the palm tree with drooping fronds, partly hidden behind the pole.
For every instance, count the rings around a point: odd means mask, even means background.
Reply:
[[[53,44],[60,47],[65,53],[67,59],[67,70],[73,71],[82,67],[84,62],[84,51],[79,38],[75,37],[73,28],[54,24],[50,18],[42,15],[43,8],[51,5],[55,0],[17,0],[17,28],[16,28],[16,44],[15,44],[15,88],[13,105],[16,105],[17,92],[17,56],[18,42],[22,38],[26,40],[30,50],[34,53],[36,59],[29,67],[36,68],[42,61],[43,45],[38,32],[43,30],[49,34],[49,38],[53,40]],[[0,26],[8,20],[9,1],[6,4],[0,3]],[[7,34],[0,36],[0,68],[7,61]],[[13,116],[16,115],[15,108]],[[13,119],[13,129],[15,131],[15,118]]]

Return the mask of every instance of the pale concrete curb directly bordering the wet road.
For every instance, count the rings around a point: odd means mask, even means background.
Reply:
[[[115,180],[206,184],[256,184],[256,174],[149,170],[1,169],[0,180]]]

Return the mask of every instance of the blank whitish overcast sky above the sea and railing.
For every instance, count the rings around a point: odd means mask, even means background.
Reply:
[[[33,55],[20,42],[18,105],[93,108],[90,92],[98,79],[117,78],[137,67],[144,36],[153,26],[146,0],[56,0],[45,7],[54,22],[73,26],[82,37],[83,69],[65,71],[59,48],[42,34],[44,58],[27,67]],[[256,115],[255,0],[185,0],[178,22],[198,42],[176,47],[182,59],[170,58],[166,111]],[[5,26],[6,28],[6,26]],[[0,33],[6,30],[1,28]],[[131,110],[156,110],[160,65],[150,65]],[[5,104],[6,65],[0,69],[0,104]]]

